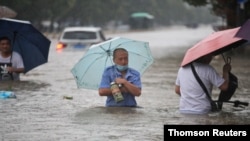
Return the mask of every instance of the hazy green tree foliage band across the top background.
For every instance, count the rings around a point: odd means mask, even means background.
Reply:
[[[204,2],[199,0],[197,4]],[[205,7],[190,8],[183,0],[0,0],[0,5],[14,9],[16,19],[33,23],[49,20],[104,26],[110,21],[127,23],[133,12],[148,12],[161,25],[215,19]]]

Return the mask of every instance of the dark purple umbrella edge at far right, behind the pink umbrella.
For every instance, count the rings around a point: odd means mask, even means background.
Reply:
[[[250,41],[249,30],[250,30],[250,19],[247,20],[247,21],[240,27],[239,31],[236,33],[235,36]]]

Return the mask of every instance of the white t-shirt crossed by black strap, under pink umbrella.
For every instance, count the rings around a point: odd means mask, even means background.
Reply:
[[[195,70],[211,95],[213,86],[220,87],[224,79],[216,70],[207,64],[193,63]],[[180,86],[180,112],[205,114],[211,109],[209,99],[196,80],[191,65],[181,67],[178,71],[175,84]]]

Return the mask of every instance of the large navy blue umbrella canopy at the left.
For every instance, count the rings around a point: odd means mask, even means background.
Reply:
[[[0,37],[11,39],[12,50],[18,52],[24,62],[25,72],[48,62],[50,40],[29,21],[0,19]]]

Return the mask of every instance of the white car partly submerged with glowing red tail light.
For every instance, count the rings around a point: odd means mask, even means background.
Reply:
[[[100,27],[66,27],[59,37],[56,49],[86,48],[105,40]]]

